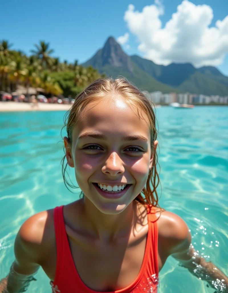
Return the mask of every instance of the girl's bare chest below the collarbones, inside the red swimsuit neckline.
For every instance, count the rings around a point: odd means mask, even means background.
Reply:
[[[81,280],[95,291],[114,291],[130,285],[142,266],[146,236],[139,243],[99,245],[86,251],[71,243],[72,257]],[[75,249],[76,248],[76,249]]]

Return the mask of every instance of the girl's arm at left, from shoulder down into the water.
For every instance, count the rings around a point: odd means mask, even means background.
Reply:
[[[0,293],[25,292],[39,269],[42,255],[42,220],[36,214],[21,226],[14,244],[15,261],[0,281]]]

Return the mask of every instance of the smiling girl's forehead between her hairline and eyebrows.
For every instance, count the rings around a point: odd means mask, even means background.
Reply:
[[[150,139],[148,117],[136,105],[131,107],[121,97],[105,98],[86,106],[74,128],[75,139],[88,131],[99,131],[106,135],[140,134]]]

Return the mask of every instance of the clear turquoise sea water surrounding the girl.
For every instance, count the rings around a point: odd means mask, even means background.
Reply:
[[[199,253],[228,275],[228,107],[162,107],[159,121],[161,207],[187,222]],[[0,279],[31,215],[79,198],[62,180],[60,130],[65,112],[0,113]],[[74,180],[73,172],[72,181]],[[159,292],[214,292],[169,257]],[[27,292],[50,293],[42,271]]]

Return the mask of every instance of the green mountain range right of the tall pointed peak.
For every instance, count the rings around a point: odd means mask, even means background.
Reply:
[[[204,66],[199,69],[189,63],[172,63],[163,66],[136,55],[131,56],[130,59],[150,76],[181,91],[209,96],[228,95],[228,77],[213,66]]]

